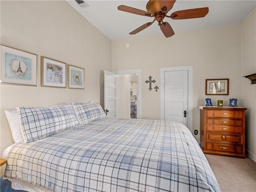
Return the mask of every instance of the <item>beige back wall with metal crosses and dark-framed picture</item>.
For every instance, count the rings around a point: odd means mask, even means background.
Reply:
[[[150,29],[146,29],[150,30]],[[160,29],[159,29],[160,30]],[[175,29],[174,29],[175,30]],[[126,48],[125,43],[130,47]],[[151,75],[160,87],[160,67],[193,66],[193,129],[200,128],[198,106],[210,97],[213,104],[237,98],[242,105],[241,24],[131,38],[112,42],[112,70],[142,69],[142,118],[160,119],[160,91],[149,91]],[[228,96],[206,96],[205,79],[229,78]],[[161,87],[160,87],[161,89]],[[159,90],[160,90],[159,89]],[[195,136],[199,141],[199,134]]]

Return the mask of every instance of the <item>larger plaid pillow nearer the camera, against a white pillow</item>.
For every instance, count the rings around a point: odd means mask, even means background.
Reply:
[[[70,104],[45,108],[20,107],[20,122],[26,143],[79,125]]]

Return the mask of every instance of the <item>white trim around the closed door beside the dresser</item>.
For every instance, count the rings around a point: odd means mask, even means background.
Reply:
[[[193,66],[160,68],[160,119],[164,120],[164,72],[188,71],[188,129],[193,132]]]

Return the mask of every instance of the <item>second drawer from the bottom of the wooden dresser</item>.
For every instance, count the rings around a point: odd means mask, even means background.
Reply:
[[[242,144],[242,135],[207,132],[206,142],[228,142],[232,144]]]

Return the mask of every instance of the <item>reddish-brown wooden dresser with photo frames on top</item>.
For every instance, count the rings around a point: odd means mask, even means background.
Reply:
[[[246,108],[203,107],[200,145],[204,153],[245,157]]]

